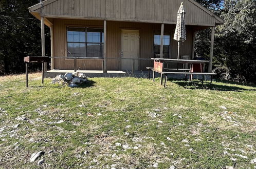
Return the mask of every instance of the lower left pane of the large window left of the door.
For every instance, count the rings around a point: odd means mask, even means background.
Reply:
[[[85,43],[67,43],[67,56],[85,57]]]

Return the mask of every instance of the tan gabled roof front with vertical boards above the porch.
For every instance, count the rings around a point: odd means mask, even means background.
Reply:
[[[194,0],[46,0],[42,8],[39,3],[28,9],[38,19],[41,15],[46,18],[176,24],[181,2],[184,2],[187,25],[216,26],[224,23],[222,18]]]

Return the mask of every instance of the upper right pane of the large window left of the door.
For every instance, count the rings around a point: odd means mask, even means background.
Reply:
[[[87,43],[102,43],[103,29],[87,29]],[[104,35],[103,35],[104,36]]]

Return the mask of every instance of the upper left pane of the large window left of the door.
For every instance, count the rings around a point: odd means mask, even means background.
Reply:
[[[67,28],[67,41],[85,43],[85,28]]]

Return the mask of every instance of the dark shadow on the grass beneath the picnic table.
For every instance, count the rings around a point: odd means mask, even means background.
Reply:
[[[179,86],[182,86],[186,89],[210,89],[215,91],[233,91],[233,92],[243,92],[243,91],[256,91],[255,89],[245,89],[241,87],[235,87],[235,86],[226,86],[226,85],[217,85],[216,83],[212,83],[210,85],[210,81],[204,81],[204,86],[202,85],[202,81],[200,80],[192,80],[191,82],[189,80],[180,80],[180,79],[168,79],[173,83],[176,83]],[[228,83],[222,82],[222,83]],[[232,82],[231,84],[237,85],[237,83]],[[241,85],[241,84],[239,84]],[[253,86],[252,86],[253,87]]]

